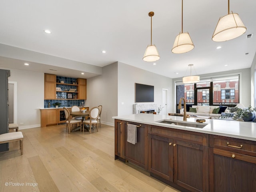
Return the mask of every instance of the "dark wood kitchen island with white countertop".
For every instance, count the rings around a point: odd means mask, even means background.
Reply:
[[[175,125],[183,122],[180,116],[113,118],[115,159],[136,164],[184,192],[256,191],[255,123],[215,119],[197,123],[197,118],[188,118],[184,126]],[[127,123],[138,126],[135,145],[127,142]]]

